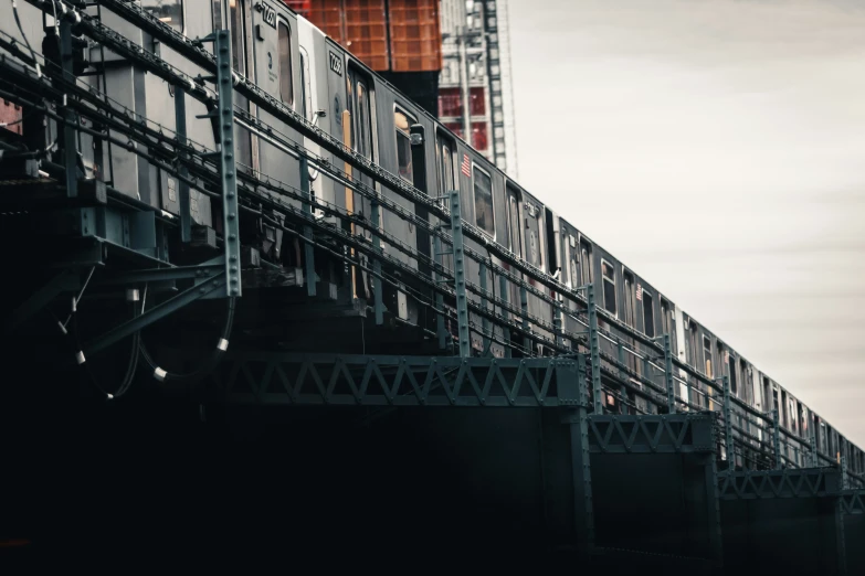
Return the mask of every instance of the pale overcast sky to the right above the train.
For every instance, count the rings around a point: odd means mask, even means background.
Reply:
[[[865,1],[509,8],[519,181],[865,448]]]

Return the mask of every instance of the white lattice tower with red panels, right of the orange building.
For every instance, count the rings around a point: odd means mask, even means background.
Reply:
[[[442,0],[439,117],[517,178],[507,0]]]

